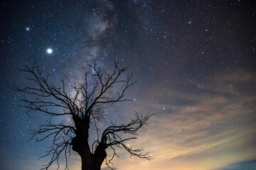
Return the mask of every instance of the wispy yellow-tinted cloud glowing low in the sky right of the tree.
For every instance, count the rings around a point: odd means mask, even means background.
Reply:
[[[155,158],[151,162],[115,160],[119,169],[219,169],[256,157],[255,77],[238,70],[208,79],[190,82],[202,93],[162,91],[151,94],[160,100],[138,100],[142,113],[156,113],[137,142]],[[154,102],[152,102],[154,101]],[[167,102],[168,101],[168,102]],[[168,104],[166,104],[168,103]]]

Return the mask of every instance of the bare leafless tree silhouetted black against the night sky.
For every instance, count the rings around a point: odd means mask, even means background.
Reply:
[[[38,129],[29,129],[31,140],[41,142],[46,139],[52,139],[53,143],[49,147],[43,157],[50,157],[50,162],[43,165],[42,169],[49,167],[56,162],[59,165],[60,155],[65,156],[65,169],[68,169],[68,157],[70,151],[78,152],[82,161],[82,170],[100,170],[102,162],[106,160],[106,164],[110,167],[112,159],[118,157],[115,149],[122,148],[129,152],[131,156],[150,160],[151,157],[147,153],[143,153],[142,149],[136,149],[124,145],[127,140],[137,139],[137,131],[147,124],[147,120],[152,114],[139,116],[135,113],[129,123],[117,125],[110,123],[110,126],[99,132],[98,123],[105,118],[104,111],[101,110],[102,105],[107,103],[119,103],[123,101],[131,101],[124,98],[124,93],[135,82],[132,82],[132,73],[125,74],[128,67],[123,67],[122,63],[114,61],[114,69],[112,72],[102,72],[97,64],[89,64],[93,74],[85,74],[85,81],[82,84],[73,84],[70,88],[75,93],[68,93],[65,82],[61,80],[61,86],[57,87],[48,80],[49,75],[43,76],[43,72],[39,69],[38,64],[33,67],[26,66],[21,69],[30,76],[27,78],[30,85],[25,88],[18,86],[12,87],[15,91],[20,91],[28,96],[21,99],[25,104],[27,113],[43,113],[49,115],[47,123],[39,125]],[[116,88],[119,86],[119,88]],[[117,93],[113,93],[113,89]],[[55,123],[54,118],[70,118],[72,123],[61,120]],[[58,119],[60,120],[60,119]],[[97,140],[89,145],[90,126],[95,128]],[[122,134],[129,134],[123,137]],[[132,135],[132,136],[131,136]],[[112,149],[112,157],[107,159],[106,149]],[[114,169],[111,168],[110,169]]]

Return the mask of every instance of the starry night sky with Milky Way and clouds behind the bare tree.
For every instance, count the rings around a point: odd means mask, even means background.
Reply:
[[[106,122],[155,113],[127,143],[154,159],[120,149],[114,167],[256,169],[255,15],[255,2],[244,0],[1,1],[0,169],[47,163],[38,157],[50,142],[27,142],[28,126],[46,117],[29,118],[18,106],[26,96],[9,88],[29,83],[18,68],[36,61],[68,86],[92,72],[87,64],[110,71],[112,60],[138,82],[127,91],[133,101],[105,108]],[[69,165],[80,169],[78,154]]]

